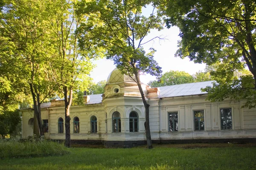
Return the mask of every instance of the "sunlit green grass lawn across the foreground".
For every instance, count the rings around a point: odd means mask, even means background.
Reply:
[[[73,147],[70,154],[0,160],[0,169],[256,170],[255,145],[185,144],[129,149]]]

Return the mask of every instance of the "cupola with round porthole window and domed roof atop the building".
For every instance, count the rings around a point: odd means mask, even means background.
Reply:
[[[111,98],[117,96],[141,96],[138,85],[133,79],[115,68],[108,76],[107,84],[105,86],[105,97]],[[143,89],[146,90],[147,85],[143,85]]]

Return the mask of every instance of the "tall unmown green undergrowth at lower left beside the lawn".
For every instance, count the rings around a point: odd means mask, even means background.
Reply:
[[[69,153],[63,143],[31,137],[23,140],[0,140],[0,159],[61,156]]]

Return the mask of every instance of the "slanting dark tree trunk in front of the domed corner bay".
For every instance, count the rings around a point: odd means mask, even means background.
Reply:
[[[152,149],[153,148],[153,145],[152,145],[152,140],[151,140],[151,134],[150,134],[150,126],[149,126],[149,106],[146,99],[145,99],[145,96],[144,96],[144,93],[143,93],[143,89],[141,87],[141,82],[140,82],[140,77],[138,75],[138,72],[137,71],[134,71],[134,75],[135,75],[135,78],[136,78],[136,81],[137,81],[137,85],[139,87],[139,90],[140,90],[140,94],[141,94],[141,97],[142,97],[142,101],[143,101],[143,104],[145,106],[145,118],[146,118],[146,121],[144,123],[144,126],[145,126],[145,131],[146,131],[146,139],[147,139],[147,145],[148,145],[148,149]]]

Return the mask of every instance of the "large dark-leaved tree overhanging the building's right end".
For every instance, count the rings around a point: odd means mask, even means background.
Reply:
[[[247,99],[256,107],[256,2],[251,0],[175,0],[160,4],[167,26],[180,28],[177,57],[208,65],[219,62],[213,88],[205,90],[212,101]],[[167,6],[167,8],[166,8]],[[247,66],[252,75],[234,76]],[[218,77],[218,78],[217,78]],[[216,90],[216,93],[215,93]],[[219,94],[217,92],[220,92]],[[222,92],[222,93],[221,93]],[[216,96],[216,94],[218,94]]]

